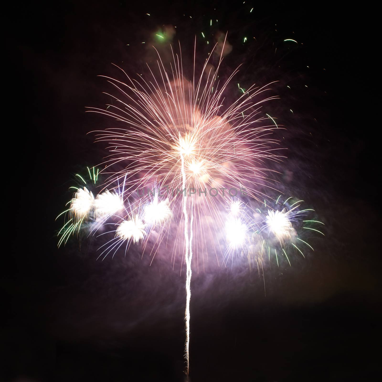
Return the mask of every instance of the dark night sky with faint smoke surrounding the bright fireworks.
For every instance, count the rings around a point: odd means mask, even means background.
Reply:
[[[176,26],[173,42],[180,40],[183,52],[197,36],[201,61],[209,52],[201,32],[212,43],[228,31],[232,52],[223,73],[243,63],[235,84],[279,81],[273,91],[280,100],[265,106],[287,128],[278,137],[288,147],[278,180],[325,222],[325,238],[310,241],[314,253],[296,257],[293,267],[265,270],[264,280],[245,267],[211,264],[194,272],[190,380],[377,380],[381,264],[374,162],[365,121],[353,124],[332,94],[340,86],[334,72],[350,71],[337,51],[343,33],[332,30],[329,8],[289,2],[13,5],[13,51],[3,74],[11,84],[3,195],[15,190],[9,204],[3,196],[11,236],[4,238],[11,248],[2,266],[3,380],[185,380],[184,273],[172,270],[165,253],[149,267],[151,259],[141,260],[137,250],[95,261],[92,240],[57,249],[55,222],[73,175],[105,155],[87,134],[110,126],[85,113],[86,106],[109,102],[102,95],[107,83],[97,76],[115,75],[111,63],[132,74],[144,71],[155,57],[147,45],[163,25]],[[210,19],[219,22],[210,28]],[[303,44],[286,45],[287,38]],[[354,87],[362,82],[355,74],[348,78]],[[343,97],[353,97],[351,86],[342,89]],[[237,95],[232,89],[233,99]]]

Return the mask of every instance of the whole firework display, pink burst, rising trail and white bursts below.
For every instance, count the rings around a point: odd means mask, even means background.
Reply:
[[[238,70],[224,81],[219,79],[220,56],[216,68],[206,60],[200,75],[195,77],[194,56],[194,71],[189,81],[183,73],[181,53],[172,52],[173,62],[169,68],[160,57],[155,70],[149,67],[151,78],[132,79],[125,72],[125,81],[106,77],[121,96],[108,94],[112,104],[105,109],[89,110],[112,117],[118,124],[118,127],[97,132],[97,141],[107,142],[110,151],[102,164],[102,173],[107,175],[103,184],[105,191],[94,199],[87,189],[78,189],[68,210],[73,220],[71,228],[64,230],[60,242],[79,230],[79,221],[92,215],[95,231],[102,224],[116,227],[105,232],[115,235],[102,245],[101,248],[105,248],[99,257],[111,251],[115,254],[123,243],[126,243],[125,253],[131,243],[147,243],[153,228],[158,234],[154,240],[159,248],[163,236],[170,235],[165,230],[170,225],[165,223],[177,222],[173,254],[182,254],[182,263],[186,264],[188,373],[193,254],[196,254],[198,270],[199,253],[204,266],[207,243],[219,243],[223,238],[227,251],[220,254],[220,260],[219,251],[215,249],[219,245],[214,246],[219,265],[225,265],[230,256],[233,259],[234,253],[248,253],[250,262],[255,259],[257,265],[259,262],[262,265],[266,250],[270,256],[271,246],[277,256],[275,243],[281,248],[280,254],[285,253],[288,259],[287,244],[299,250],[293,223],[301,211],[298,206],[285,206],[282,210],[269,208],[266,212],[256,209],[261,219],[251,219],[251,208],[237,196],[244,189],[248,200],[259,203],[268,199],[259,191],[259,185],[269,183],[270,170],[265,162],[280,160],[275,152],[278,142],[270,137],[272,130],[279,126],[261,112],[263,102],[276,98],[264,97],[268,85],[241,89],[240,97],[227,104],[225,93]],[[118,189],[118,192],[107,188]],[[143,192],[136,199],[135,193],[145,188],[151,189],[153,196]],[[167,189],[162,198],[161,188]]]

